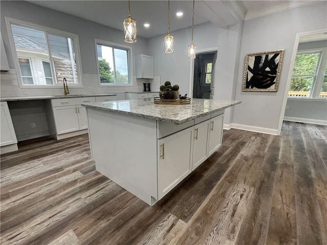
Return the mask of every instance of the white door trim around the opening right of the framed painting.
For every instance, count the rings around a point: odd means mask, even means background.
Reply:
[[[282,104],[281,115],[279,116],[277,135],[281,135],[281,132],[282,132],[282,126],[283,126],[283,120],[284,120],[284,115],[285,115],[288,91],[289,91],[290,85],[291,85],[293,67],[294,67],[294,63],[295,63],[295,57],[296,57],[296,54],[297,54],[297,48],[298,48],[298,43],[299,43],[300,37],[310,36],[310,35],[315,35],[315,34],[323,34],[323,33],[326,33],[326,31],[327,31],[326,29],[321,29],[321,30],[310,31],[310,32],[302,32],[302,33],[297,33],[296,36],[295,36],[293,55],[292,55],[292,59],[291,59],[291,63],[290,63],[290,68],[289,68],[289,72],[288,72],[287,81],[286,81],[286,89],[285,89],[285,92],[284,92],[284,100],[283,100],[283,104]]]

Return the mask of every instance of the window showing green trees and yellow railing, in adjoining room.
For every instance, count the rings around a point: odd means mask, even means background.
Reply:
[[[296,54],[288,96],[327,98],[326,48]]]

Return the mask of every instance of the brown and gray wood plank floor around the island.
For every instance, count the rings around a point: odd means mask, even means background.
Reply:
[[[1,156],[1,244],[327,244],[327,127],[224,131],[154,207],[95,170],[87,135]]]

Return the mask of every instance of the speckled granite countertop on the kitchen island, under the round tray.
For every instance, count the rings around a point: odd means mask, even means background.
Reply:
[[[82,104],[82,106],[91,109],[111,111],[154,120],[167,121],[174,124],[183,124],[186,121],[190,121],[216,111],[221,111],[225,108],[240,103],[241,101],[192,99],[191,104],[188,105],[158,105],[153,103],[153,99],[148,98],[126,101],[88,103]]]

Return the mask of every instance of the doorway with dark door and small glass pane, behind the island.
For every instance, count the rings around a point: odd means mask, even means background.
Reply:
[[[197,54],[194,60],[193,98],[211,99],[217,52]]]

